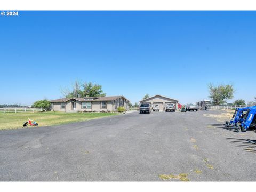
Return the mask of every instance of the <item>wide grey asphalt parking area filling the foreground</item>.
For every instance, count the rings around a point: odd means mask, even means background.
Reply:
[[[255,181],[254,131],[236,133],[197,111],[94,119],[0,131],[1,181]]]

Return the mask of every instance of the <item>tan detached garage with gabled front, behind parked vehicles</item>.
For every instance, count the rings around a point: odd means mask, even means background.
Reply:
[[[175,105],[175,108],[178,109],[178,102],[179,101],[176,99],[167,98],[162,95],[155,95],[154,97],[150,97],[140,101],[140,103],[149,103],[152,109],[154,105],[158,105],[160,110],[165,110],[166,105],[169,103],[173,103]]]

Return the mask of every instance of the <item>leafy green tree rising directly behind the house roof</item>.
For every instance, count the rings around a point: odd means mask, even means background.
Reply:
[[[84,83],[82,85],[84,90],[82,91],[82,97],[105,97],[106,93],[103,93],[101,85],[93,84],[92,82]]]

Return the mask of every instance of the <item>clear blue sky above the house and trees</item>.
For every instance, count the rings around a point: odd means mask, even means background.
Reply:
[[[0,27],[1,104],[58,99],[76,79],[132,103],[196,102],[210,82],[256,96],[255,11],[20,11]]]

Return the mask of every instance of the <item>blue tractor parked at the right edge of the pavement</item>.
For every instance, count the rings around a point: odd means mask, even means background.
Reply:
[[[223,125],[225,125],[225,127],[229,128],[229,129],[236,129],[237,132],[239,132],[239,128],[241,129],[242,132],[245,132],[246,129],[249,128],[249,126],[253,127],[253,124],[250,125],[251,124],[250,123],[249,125],[247,125],[247,124],[242,125],[242,123],[246,122],[246,118],[247,118],[248,114],[250,113],[250,111],[253,111],[253,110],[256,110],[256,106],[237,108],[235,110],[234,115],[231,118],[230,122],[226,121]],[[253,117],[254,117],[254,115],[253,115]],[[238,127],[238,125],[239,125],[239,127]]]

